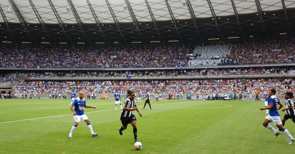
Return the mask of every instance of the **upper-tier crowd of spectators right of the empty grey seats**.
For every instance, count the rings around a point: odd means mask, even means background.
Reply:
[[[294,63],[295,40],[275,39],[235,43],[231,59],[239,64]]]

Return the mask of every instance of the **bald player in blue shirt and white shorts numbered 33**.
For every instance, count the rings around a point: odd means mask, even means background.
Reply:
[[[84,114],[84,107],[86,108],[94,108],[96,109],[95,106],[88,106],[86,105],[86,100],[83,99],[84,98],[84,92],[80,91],[79,92],[79,97],[74,99],[74,102],[71,104],[70,109],[73,111],[73,115],[74,115],[74,120],[75,120],[75,124],[71,129],[71,132],[69,134],[69,138],[73,138],[73,132],[76,130],[80,120],[83,120],[87,123],[87,127],[90,130],[91,136],[98,136],[98,133],[93,132],[92,126],[90,124],[90,121],[88,119],[88,117]],[[73,106],[75,106],[75,109],[73,108]]]

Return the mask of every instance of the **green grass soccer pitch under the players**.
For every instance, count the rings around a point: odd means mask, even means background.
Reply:
[[[284,133],[273,138],[262,126],[264,101],[151,100],[152,110],[148,105],[143,110],[142,100],[137,106],[143,117],[135,111],[140,150],[133,146],[130,124],[119,135],[121,110],[114,109],[113,99],[86,99],[97,107],[84,111],[98,136],[92,137],[81,121],[73,139],[68,138],[74,124],[70,102],[0,99],[0,153],[276,153],[295,148]],[[285,114],[279,113],[281,118]],[[285,128],[295,137],[291,120]]]

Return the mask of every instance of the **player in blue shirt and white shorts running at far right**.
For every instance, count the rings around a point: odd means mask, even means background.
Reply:
[[[268,107],[259,108],[261,111],[269,109],[269,115],[265,117],[262,125],[268,128],[269,130],[271,130],[272,132],[274,132],[275,134],[274,138],[280,135],[281,132],[279,130],[282,130],[289,137],[289,140],[290,140],[289,144],[293,144],[295,139],[291,136],[289,131],[286,128],[284,128],[282,121],[280,120],[280,114],[278,113],[278,110],[280,110],[283,107],[283,104],[275,96],[275,94],[276,94],[276,90],[274,89],[269,90],[268,91],[268,96],[269,96]],[[280,105],[280,107],[277,108],[277,105]],[[275,130],[274,128],[272,128],[272,126],[268,124],[270,122],[273,122],[273,124],[275,124],[276,127],[279,128],[279,130]]]

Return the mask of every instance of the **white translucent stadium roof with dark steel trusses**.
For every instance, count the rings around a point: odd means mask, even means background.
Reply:
[[[130,43],[291,34],[294,0],[1,0],[2,41]]]

